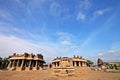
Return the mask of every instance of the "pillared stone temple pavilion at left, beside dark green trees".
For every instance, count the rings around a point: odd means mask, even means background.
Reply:
[[[16,54],[14,53],[9,59],[10,63],[7,67],[8,70],[39,70],[43,68],[43,63],[45,63],[42,54]]]

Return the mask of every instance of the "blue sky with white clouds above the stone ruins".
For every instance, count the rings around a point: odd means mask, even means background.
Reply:
[[[0,56],[120,61],[119,0],[0,0]]]

